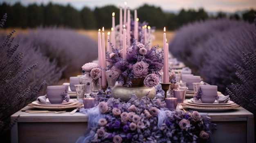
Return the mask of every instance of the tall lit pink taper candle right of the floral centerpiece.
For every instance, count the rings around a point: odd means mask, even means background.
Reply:
[[[164,83],[168,83],[169,82],[169,71],[168,71],[168,57],[167,57],[167,49],[166,49],[166,33],[165,33],[166,29],[164,27],[164,40],[163,40],[163,49],[164,49]]]

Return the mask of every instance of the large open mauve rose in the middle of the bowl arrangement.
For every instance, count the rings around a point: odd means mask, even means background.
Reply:
[[[149,64],[140,61],[132,65],[132,74],[135,78],[142,78],[148,75],[148,66]]]

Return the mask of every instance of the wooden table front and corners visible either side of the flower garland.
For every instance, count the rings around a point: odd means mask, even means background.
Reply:
[[[21,110],[32,110],[26,106]],[[88,118],[76,112],[27,113],[18,111],[11,116],[18,122],[11,129],[11,143],[75,143],[87,128]],[[216,143],[254,143],[254,116],[239,107],[226,112],[208,114],[217,124],[213,133]]]

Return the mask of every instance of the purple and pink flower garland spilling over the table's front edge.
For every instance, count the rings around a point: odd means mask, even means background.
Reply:
[[[170,111],[159,97],[161,94],[150,100],[146,96],[139,99],[132,95],[127,103],[110,98],[94,108],[81,109],[80,112],[86,111],[88,117],[89,111],[93,110],[91,114],[99,118],[92,119],[97,120],[95,126],[77,143],[196,143],[211,140],[216,124],[211,123],[210,117],[202,117],[192,110],[186,113]]]

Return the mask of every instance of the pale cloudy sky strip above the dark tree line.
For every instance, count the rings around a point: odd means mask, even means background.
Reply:
[[[199,9],[204,8],[209,12],[231,12],[256,9],[256,0],[0,0],[0,3],[7,2],[13,5],[16,2],[21,2],[24,6],[32,3],[67,5],[81,10],[83,7],[94,9],[95,7],[103,7],[106,5],[115,5],[116,7],[124,7],[127,2],[127,7],[131,10],[143,6],[145,3],[161,7],[164,11],[179,11],[180,9]]]

